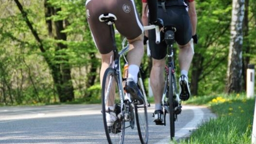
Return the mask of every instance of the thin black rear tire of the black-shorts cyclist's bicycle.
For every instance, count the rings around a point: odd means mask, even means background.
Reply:
[[[168,88],[168,95],[169,95],[169,112],[170,112],[170,136],[171,140],[175,137],[175,113],[174,113],[174,89],[173,89],[173,73],[172,67],[168,68],[168,80],[169,80],[169,88]]]

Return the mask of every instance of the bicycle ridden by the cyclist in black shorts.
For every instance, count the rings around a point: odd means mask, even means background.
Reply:
[[[169,26],[165,27],[163,31],[164,41],[167,44],[167,58],[162,105],[164,107],[164,126],[166,126],[166,114],[169,114],[170,136],[171,140],[173,140],[175,137],[175,121],[177,120],[177,115],[181,113],[182,108],[177,89],[175,51],[173,46],[175,43],[176,28]]]

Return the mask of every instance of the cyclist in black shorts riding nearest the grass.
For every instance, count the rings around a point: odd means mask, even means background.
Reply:
[[[146,0],[142,0],[147,2]],[[197,15],[194,0],[159,0],[158,1],[158,16],[163,20],[164,26],[173,26],[176,28],[175,40],[179,47],[178,63],[181,69],[179,77],[179,98],[187,101],[190,98],[190,87],[188,80],[188,71],[193,58],[193,49],[190,40],[193,39],[197,43],[196,35]],[[143,15],[147,14],[146,4],[143,4]],[[150,10],[149,10],[150,12]],[[150,14],[149,14],[150,15]],[[164,75],[165,56],[167,45],[164,41],[156,44],[154,30],[149,30],[149,47],[152,57],[152,69],[150,72],[150,85],[155,99],[154,122],[157,125],[162,125],[163,110],[161,99],[164,90]],[[146,40],[147,37],[144,37]],[[161,35],[163,39],[163,35]],[[145,41],[144,40],[144,41]]]

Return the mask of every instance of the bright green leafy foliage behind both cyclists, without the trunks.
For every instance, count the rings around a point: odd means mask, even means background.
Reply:
[[[66,67],[71,69],[72,85],[77,100],[98,101],[101,60],[86,20],[85,0],[47,0],[52,8],[60,10],[48,17],[45,15],[44,0],[19,1],[41,39],[45,52],[39,49],[39,43],[16,3],[3,0],[0,5],[0,103],[58,102],[52,75],[54,66],[60,68],[60,71]],[[135,3],[138,13],[141,14],[142,2],[135,0]],[[190,72],[202,70],[197,81],[198,95],[213,95],[212,93],[224,90],[231,4],[232,0],[196,1],[199,43],[194,45],[194,60],[199,59],[199,62],[192,64]],[[256,63],[256,4],[251,1],[248,17],[249,33],[244,37],[246,43],[243,50],[251,47],[251,51],[243,53],[243,57],[251,58],[250,62]],[[46,21],[51,21],[52,24],[62,21],[64,29],[61,33],[66,34],[66,40],[56,39],[54,25],[52,35],[49,34]],[[122,40],[121,35],[116,35],[119,48]],[[64,44],[66,48],[60,49],[60,44]],[[200,65],[196,66],[195,63]],[[92,67],[96,68],[94,72],[91,72]],[[146,55],[142,67],[147,89],[151,62]],[[178,70],[177,65],[177,73]],[[94,76],[96,79],[91,86],[89,82]]]

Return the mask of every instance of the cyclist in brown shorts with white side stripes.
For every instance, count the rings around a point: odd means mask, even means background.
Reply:
[[[100,82],[102,82],[105,70],[109,67],[111,58],[113,59],[113,41],[109,26],[100,22],[99,16],[101,14],[111,13],[117,18],[115,21],[116,29],[127,38],[129,43],[130,51],[127,56],[129,66],[126,91],[130,93],[132,101],[136,99],[142,102],[143,95],[137,86],[137,75],[144,55],[144,29],[134,0],[87,0],[85,6],[87,21],[96,47],[101,55]],[[154,25],[160,25],[157,19],[157,0],[149,0],[148,7],[151,15],[149,22]],[[108,126],[112,126],[116,120],[116,115],[113,113],[114,106],[111,104],[108,106],[109,108],[107,109],[110,112],[106,114],[107,123]]]

